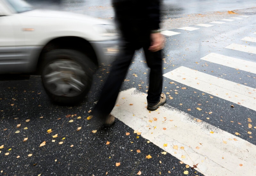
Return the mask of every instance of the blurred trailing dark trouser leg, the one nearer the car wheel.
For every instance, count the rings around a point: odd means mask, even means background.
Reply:
[[[127,70],[133,58],[134,49],[124,47],[112,63],[108,78],[102,88],[100,99],[95,105],[92,114],[104,121],[115,106],[119,89],[124,81]]]

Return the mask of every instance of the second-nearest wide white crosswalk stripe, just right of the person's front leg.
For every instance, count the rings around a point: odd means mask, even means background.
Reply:
[[[166,78],[196,88],[224,100],[256,110],[256,88],[221,79],[187,67],[164,74]]]

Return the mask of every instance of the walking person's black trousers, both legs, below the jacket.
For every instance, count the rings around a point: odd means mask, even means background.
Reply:
[[[93,116],[105,120],[115,106],[119,89],[125,79],[127,70],[131,64],[134,52],[136,49],[143,48],[147,60],[147,65],[150,68],[149,74],[149,90],[147,101],[155,104],[159,102],[160,94],[162,93],[163,76],[162,76],[162,57],[161,51],[150,52],[150,34],[144,41],[127,41],[124,39],[120,53],[116,60],[112,63],[110,74],[102,88],[100,99],[93,109]],[[136,44],[135,44],[136,43]],[[136,47],[134,47],[136,45]]]

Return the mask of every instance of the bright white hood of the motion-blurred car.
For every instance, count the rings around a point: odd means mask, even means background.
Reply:
[[[103,20],[103,19],[94,18],[87,15],[67,12],[67,11],[35,9],[32,11],[24,12],[23,15],[28,17],[64,18],[64,19],[70,19],[70,20],[71,19],[82,20],[82,21],[87,21],[90,24],[113,24],[111,21],[108,21],[108,20]]]

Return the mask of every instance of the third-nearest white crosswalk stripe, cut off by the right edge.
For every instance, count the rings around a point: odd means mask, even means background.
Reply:
[[[228,57],[216,53],[210,53],[201,59],[256,74],[256,62]]]

